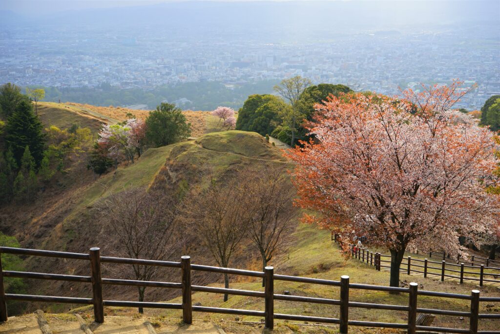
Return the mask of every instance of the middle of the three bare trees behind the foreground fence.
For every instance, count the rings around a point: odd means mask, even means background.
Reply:
[[[212,254],[215,262],[227,267],[251,219],[246,210],[247,180],[231,178],[229,182],[212,180],[210,186],[193,196],[186,208],[196,234]],[[224,274],[224,286],[229,287],[229,276]],[[227,294],[224,294],[224,301]]]

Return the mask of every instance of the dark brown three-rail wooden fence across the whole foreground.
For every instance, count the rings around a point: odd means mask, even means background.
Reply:
[[[227,313],[227,314],[239,314],[239,315],[250,315],[250,316],[263,316],[264,322],[265,322],[265,327],[268,329],[273,328],[274,319],[283,319],[283,320],[311,321],[311,322],[319,322],[319,323],[334,323],[334,324],[339,325],[340,333],[347,333],[349,325],[350,326],[364,326],[364,327],[400,328],[400,329],[406,329],[409,334],[415,334],[416,330],[438,331],[438,332],[447,332],[447,333],[470,333],[470,334],[500,333],[500,331],[478,330],[478,323],[481,319],[500,319],[500,314],[479,313],[479,303],[480,302],[489,302],[489,303],[490,302],[500,302],[500,297],[481,297],[481,296],[479,296],[478,290],[472,290],[470,295],[467,295],[467,294],[457,294],[457,293],[448,293],[448,292],[418,290],[418,284],[415,282],[411,282],[409,284],[409,287],[406,288],[406,287],[390,287],[390,286],[379,286],[379,285],[370,285],[370,284],[349,283],[349,276],[345,276],[345,275],[341,276],[339,281],[328,280],[328,279],[319,279],[319,278],[310,278],[310,277],[296,277],[296,276],[288,276],[288,275],[278,275],[278,274],[274,274],[274,272],[273,272],[274,269],[273,269],[273,267],[270,267],[270,266],[265,267],[264,271],[260,272],[260,271],[250,271],[250,270],[221,268],[221,267],[213,267],[213,266],[206,266],[206,265],[199,265],[199,264],[191,264],[189,256],[182,256],[180,259],[180,262],[109,257],[109,256],[101,256],[99,254],[99,248],[96,248],[96,247],[90,248],[88,254],[48,251],[48,250],[37,250],[37,249],[11,248],[11,247],[0,247],[0,255],[1,255],[1,253],[17,254],[17,255],[31,255],[31,256],[50,256],[50,257],[63,258],[63,259],[84,260],[84,261],[88,261],[88,263],[89,263],[90,275],[89,276],[77,276],[77,275],[61,275],[61,274],[51,274],[51,273],[2,270],[1,259],[0,259],[0,321],[7,321],[6,302],[8,302],[9,300],[24,300],[24,301],[44,301],[44,302],[60,302],[60,303],[74,303],[74,304],[90,304],[90,305],[93,305],[94,320],[96,322],[100,322],[100,323],[102,323],[104,321],[104,311],[103,311],[104,306],[129,306],[129,307],[139,307],[140,306],[140,307],[149,307],[149,308],[181,309],[182,310],[182,319],[187,324],[190,324],[192,322],[192,312],[196,311],[196,312],[212,312],[212,313]],[[375,258],[376,258],[376,263],[377,263],[377,266],[379,269],[380,257],[376,256]],[[370,260],[372,260],[372,257],[370,257]],[[181,283],[102,278],[101,271],[100,271],[100,264],[101,263],[140,264],[140,265],[154,265],[154,266],[180,268],[181,269]],[[192,270],[228,273],[228,274],[234,274],[234,275],[246,275],[246,276],[251,276],[251,277],[264,278],[264,281],[265,281],[264,292],[192,285],[191,284],[191,271]],[[5,293],[4,287],[3,287],[3,277],[50,279],[50,280],[64,280],[64,281],[90,283],[91,287],[92,287],[92,298],[76,298],[76,297],[62,297],[62,296],[42,296],[42,295]],[[273,291],[273,285],[274,285],[275,280],[336,286],[336,287],[340,288],[339,299],[275,294]],[[103,286],[109,285],[109,284],[128,285],[128,286],[153,286],[153,287],[181,289],[182,303],[103,300],[103,298],[102,298]],[[390,305],[390,304],[377,304],[377,303],[366,303],[366,302],[352,302],[352,301],[349,301],[349,290],[351,290],[351,289],[406,293],[406,294],[408,294],[408,304],[407,305]],[[191,292],[192,291],[228,293],[228,294],[263,298],[264,299],[264,311],[192,305],[192,303],[191,303]],[[465,312],[465,311],[421,308],[421,307],[418,307],[418,304],[417,304],[417,298],[419,295],[470,300],[470,310]],[[298,301],[298,302],[306,302],[306,303],[320,303],[320,304],[328,304],[328,305],[338,305],[340,308],[339,317],[332,318],[332,317],[318,317],[318,316],[305,316],[305,315],[297,315],[297,314],[274,313],[274,300],[288,300],[288,301]],[[406,311],[407,312],[407,322],[406,323],[393,323],[393,322],[374,322],[374,321],[353,320],[353,319],[349,318],[349,309],[354,308],[354,307],[356,307],[356,308],[368,308],[368,309],[371,308],[371,309]],[[469,318],[469,328],[463,329],[463,328],[448,328],[448,327],[434,327],[434,326],[416,325],[417,313],[434,313],[434,314],[442,314],[442,315],[468,317]]]

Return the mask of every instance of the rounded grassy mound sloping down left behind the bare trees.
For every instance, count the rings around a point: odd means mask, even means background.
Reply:
[[[252,166],[266,170],[270,165],[289,164],[281,151],[269,144],[256,133],[227,131],[210,133],[198,140],[186,141],[157,149],[147,150],[136,163],[119,167],[95,182],[78,188],[53,206],[46,208],[41,215],[26,222],[17,235],[23,246],[34,248],[87,252],[89,247],[101,247],[102,254],[111,254],[118,246],[113,232],[102,221],[98,208],[100,203],[112,194],[130,187],[149,188],[152,186],[177,185],[185,182],[190,188],[203,188],[211,178],[225,178],[235,175],[240,168]],[[291,165],[290,165],[291,166]],[[166,188],[166,187],[165,187]],[[191,236],[191,237],[194,237]],[[235,263],[246,266],[253,261],[254,251],[238,250]],[[197,256],[198,261],[214,264],[206,249],[199,242],[190,242],[185,252]],[[173,258],[180,254],[173,254]],[[52,258],[30,258],[30,270],[55,272],[61,274],[88,274],[88,268],[81,261],[60,261]],[[107,271],[109,269],[110,271]],[[111,268],[103,270],[107,276],[114,275]],[[164,272],[162,279],[175,279],[174,272]],[[206,284],[218,280],[218,275],[203,274],[196,279]],[[74,282],[54,284],[50,281],[37,281],[31,285],[31,293],[88,296],[89,286]],[[136,298],[135,288],[109,287],[106,297]],[[153,300],[168,299],[178,291],[168,289],[146,290],[146,298]],[[60,307],[60,308],[59,308]],[[53,310],[61,310],[63,305]]]

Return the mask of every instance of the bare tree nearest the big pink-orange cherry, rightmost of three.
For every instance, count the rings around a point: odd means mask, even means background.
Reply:
[[[297,216],[293,206],[296,192],[286,175],[285,166],[266,168],[265,173],[250,169],[240,177],[250,180],[246,191],[252,219],[247,231],[262,257],[263,269],[283,246],[286,232],[293,228],[292,221]]]

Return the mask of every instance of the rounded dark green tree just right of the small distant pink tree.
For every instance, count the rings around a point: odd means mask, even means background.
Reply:
[[[272,133],[280,123],[275,103],[280,99],[270,94],[250,95],[238,111],[236,130],[253,131],[262,136]]]

